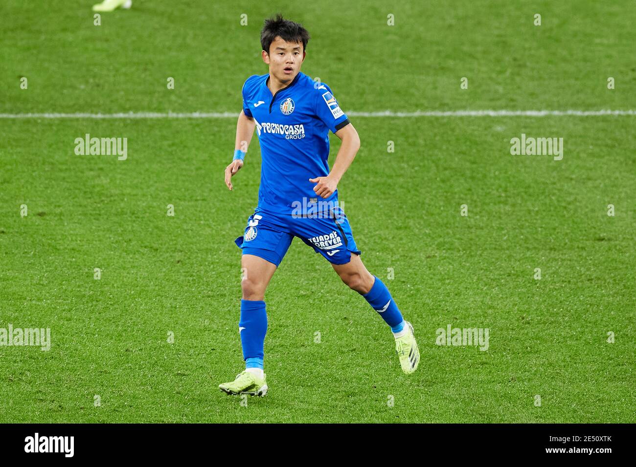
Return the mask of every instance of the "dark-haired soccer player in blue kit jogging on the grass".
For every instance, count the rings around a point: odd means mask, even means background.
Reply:
[[[294,236],[329,261],[342,281],[391,327],[404,373],[414,372],[420,359],[413,326],[404,321],[384,283],[364,267],[349,220],[338,205],[338,182],[360,139],[329,86],[300,72],[308,39],[305,28],[281,15],[265,21],[261,46],[269,72],[250,76],[243,85],[234,158],[225,169],[225,184],[232,190],[231,177],[243,166],[256,128],[262,159],[258,206],[244,235],[235,240],[242,249],[244,271],[239,333],[245,370],[234,381],[219,384],[232,395],[267,393],[265,289]],[[342,140],[331,171],[329,130]]]

